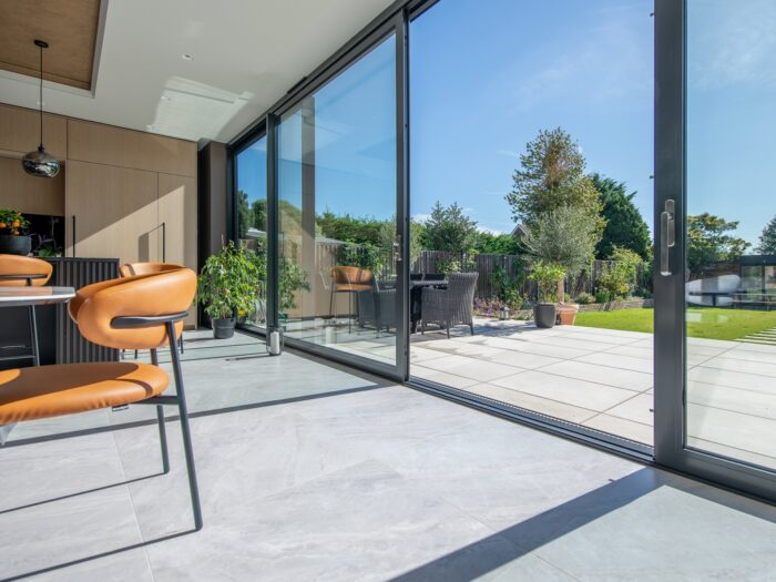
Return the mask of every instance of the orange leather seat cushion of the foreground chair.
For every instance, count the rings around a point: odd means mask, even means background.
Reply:
[[[169,385],[161,368],[124,361],[1,370],[0,425],[137,402]]]

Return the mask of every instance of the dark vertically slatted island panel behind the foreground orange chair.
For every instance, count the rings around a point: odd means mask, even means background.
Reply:
[[[119,277],[119,261],[112,258],[52,258],[51,285],[76,289]],[[57,306],[57,364],[118,361],[119,350],[92,344],[81,336],[68,315],[67,305]]]

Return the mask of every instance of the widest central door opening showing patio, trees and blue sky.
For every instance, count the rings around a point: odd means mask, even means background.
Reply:
[[[415,378],[652,443],[652,11],[445,0],[412,22],[410,284],[450,279],[412,289]]]

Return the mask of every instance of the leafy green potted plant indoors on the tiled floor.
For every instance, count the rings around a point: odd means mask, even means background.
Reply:
[[[235,314],[249,313],[259,284],[254,252],[229,242],[207,257],[197,284],[197,300],[213,321],[213,337],[234,336]]]

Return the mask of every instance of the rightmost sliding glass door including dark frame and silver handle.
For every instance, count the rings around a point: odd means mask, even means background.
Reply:
[[[776,6],[681,4],[657,6],[655,452],[773,499]]]

